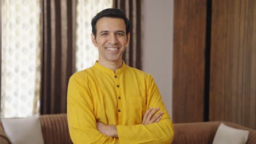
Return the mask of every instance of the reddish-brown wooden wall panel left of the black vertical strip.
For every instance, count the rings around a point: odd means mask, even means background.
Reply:
[[[206,0],[174,0],[173,122],[203,121]]]

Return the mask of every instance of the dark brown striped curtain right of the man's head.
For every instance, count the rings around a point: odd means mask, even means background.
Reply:
[[[131,22],[131,40],[123,59],[127,65],[141,69],[141,1],[113,0],[113,8],[124,10]]]

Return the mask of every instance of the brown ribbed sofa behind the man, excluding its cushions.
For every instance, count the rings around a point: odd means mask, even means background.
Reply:
[[[67,115],[43,115],[40,116],[44,143],[46,144],[71,144],[68,133]],[[189,143],[203,144],[212,143],[216,130],[221,122],[201,122],[201,123],[181,123],[174,124],[174,140],[173,143]],[[224,122],[233,128],[249,130],[249,138],[247,143],[256,143],[256,131],[248,129],[241,125]],[[29,139],[29,137],[28,137]],[[2,124],[0,124],[0,143],[10,144],[8,137],[5,135]]]

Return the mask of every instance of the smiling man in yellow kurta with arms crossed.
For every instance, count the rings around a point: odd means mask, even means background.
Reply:
[[[173,124],[153,77],[121,59],[130,40],[123,11],[105,9],[91,25],[98,61],[73,74],[68,85],[73,143],[171,143]]]

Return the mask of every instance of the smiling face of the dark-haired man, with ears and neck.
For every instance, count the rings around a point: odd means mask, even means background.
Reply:
[[[97,35],[91,34],[92,42],[98,47],[98,61],[121,61],[126,46],[130,41],[130,33],[126,36],[123,19],[102,17],[96,23]]]

